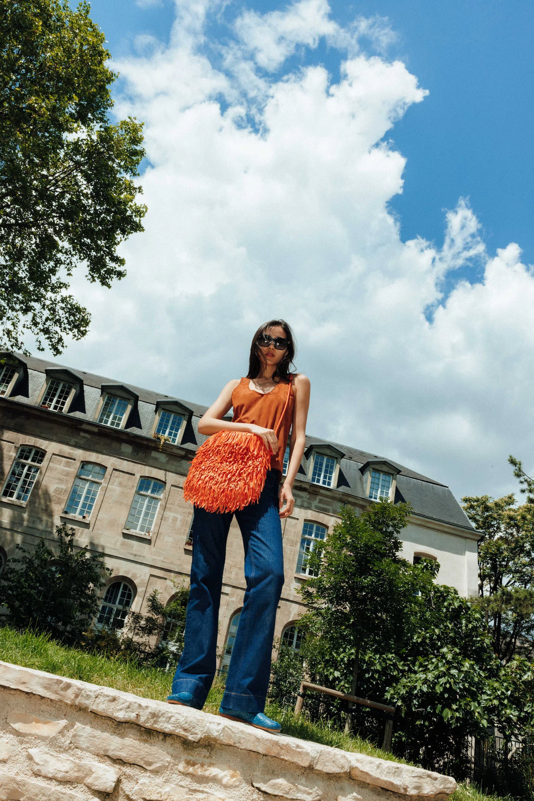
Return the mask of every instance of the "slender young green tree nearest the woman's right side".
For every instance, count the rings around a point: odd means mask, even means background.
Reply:
[[[300,590],[309,610],[303,617],[307,649],[313,641],[313,662],[320,670],[321,654],[329,662],[335,633],[343,632],[343,649],[352,654],[352,674],[332,678],[351,694],[360,650],[388,653],[408,626],[416,587],[412,566],[399,556],[399,533],[408,513],[407,504],[387,501],[371,505],[360,516],[343,506],[339,523],[308,557],[307,566],[315,575]]]

